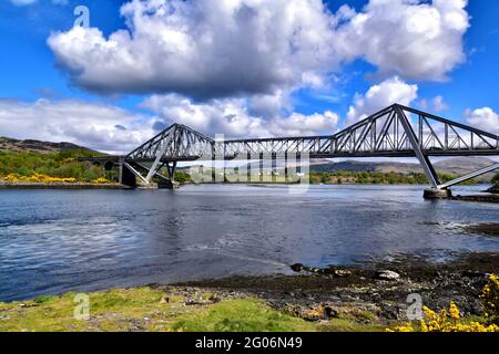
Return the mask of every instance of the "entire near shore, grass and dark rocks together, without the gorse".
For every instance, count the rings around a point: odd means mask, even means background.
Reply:
[[[400,257],[365,266],[292,268],[295,275],[91,292],[86,322],[71,317],[75,293],[0,302],[0,331],[385,332],[407,322],[409,294],[420,295],[432,310],[448,309],[454,301],[462,317],[477,320],[483,319],[482,288],[489,274],[499,273],[499,253],[469,253],[447,263]]]

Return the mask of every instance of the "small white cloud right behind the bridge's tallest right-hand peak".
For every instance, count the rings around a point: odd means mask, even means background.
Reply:
[[[371,86],[366,94],[357,94],[347,113],[347,125],[354,124],[394,103],[410,105],[418,96],[418,86],[395,76]]]

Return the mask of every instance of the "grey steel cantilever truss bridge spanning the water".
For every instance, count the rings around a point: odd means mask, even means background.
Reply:
[[[499,156],[499,136],[411,107],[394,104],[334,134],[325,136],[273,137],[215,140],[192,128],[173,124],[125,156],[114,157],[121,165],[122,183],[136,186],[136,178],[149,184],[153,177],[170,186],[179,162],[254,160],[277,155],[307,155],[308,158],[416,157],[431,190],[447,191],[465,180],[499,169],[499,164],[441,183],[429,157]],[[99,157],[94,160],[105,160]],[[167,176],[160,170],[166,167]]]

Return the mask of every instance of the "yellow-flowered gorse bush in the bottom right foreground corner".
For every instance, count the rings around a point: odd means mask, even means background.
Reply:
[[[485,316],[488,323],[469,322],[461,320],[459,308],[450,302],[449,310],[435,312],[424,306],[424,320],[419,323],[406,323],[388,332],[499,332],[497,321],[499,319],[499,280],[497,275],[490,275],[480,295]]]

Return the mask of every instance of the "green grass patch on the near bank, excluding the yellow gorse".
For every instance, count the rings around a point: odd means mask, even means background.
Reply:
[[[307,332],[384,331],[354,317],[307,322],[253,298],[186,305],[185,298],[151,288],[115,289],[89,294],[90,317],[75,320],[75,293],[0,303],[0,331],[13,332]],[[202,295],[208,299],[210,293]],[[369,317],[366,314],[366,317]]]

